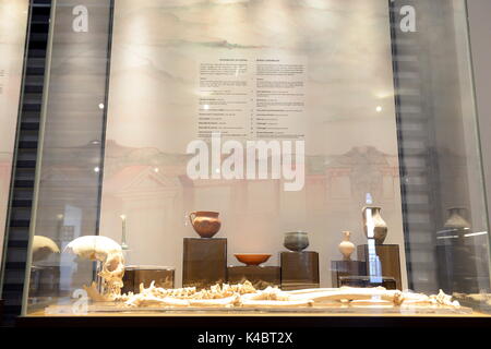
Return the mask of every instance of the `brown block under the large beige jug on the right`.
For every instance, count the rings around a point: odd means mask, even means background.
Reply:
[[[358,260],[367,263],[366,275],[394,278],[397,289],[403,289],[398,244],[374,244],[370,253],[368,244],[358,245]],[[372,255],[371,255],[372,254]],[[372,260],[371,260],[372,257]],[[380,261],[380,264],[376,262]],[[380,267],[380,270],[378,269]]]

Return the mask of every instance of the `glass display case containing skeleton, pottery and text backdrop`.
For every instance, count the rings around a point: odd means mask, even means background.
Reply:
[[[56,0],[26,316],[491,310],[464,0]]]

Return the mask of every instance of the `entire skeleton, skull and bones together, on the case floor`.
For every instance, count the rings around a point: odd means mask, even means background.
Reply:
[[[104,292],[97,291],[95,284],[86,287],[95,301],[116,301],[128,308],[306,308],[306,306],[400,306],[400,308],[459,308],[452,296],[440,290],[439,294],[386,290],[385,288],[315,288],[283,291],[277,287],[256,290],[251,282],[238,285],[215,285],[209,289],[195,287],[165,289],[140,285],[140,292],[121,294],[123,286],[124,260],[121,246],[113,240],[100,236],[81,237],[67,246],[72,253],[103,263],[99,276],[104,280]]]

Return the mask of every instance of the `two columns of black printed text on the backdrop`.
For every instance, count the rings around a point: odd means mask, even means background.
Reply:
[[[197,137],[303,139],[306,71],[301,58],[201,62]]]

